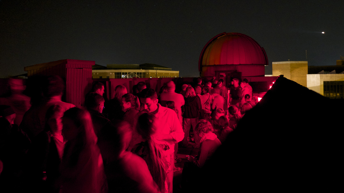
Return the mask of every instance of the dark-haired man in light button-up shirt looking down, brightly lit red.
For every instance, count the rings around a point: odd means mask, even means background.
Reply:
[[[157,93],[153,89],[143,89],[140,97],[143,112],[149,112],[157,117],[157,131],[155,139],[165,141],[169,145],[168,160],[170,160],[167,184],[169,192],[173,190],[173,168],[174,168],[174,144],[184,137],[182,126],[178,120],[178,115],[169,108],[158,103]]]

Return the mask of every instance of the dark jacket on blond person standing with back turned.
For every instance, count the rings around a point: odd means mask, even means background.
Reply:
[[[185,100],[184,118],[198,118],[202,110],[201,99],[199,96],[187,97]]]

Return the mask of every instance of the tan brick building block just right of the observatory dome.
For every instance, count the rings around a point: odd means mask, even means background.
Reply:
[[[307,87],[308,61],[272,62],[272,76],[283,75]]]

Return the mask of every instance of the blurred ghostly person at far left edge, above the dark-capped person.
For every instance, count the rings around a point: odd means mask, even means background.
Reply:
[[[23,94],[25,85],[23,79],[7,79],[10,94],[6,98],[0,98],[0,105],[9,105],[13,108],[16,117],[14,124],[20,125],[26,111],[31,107],[30,97]]]

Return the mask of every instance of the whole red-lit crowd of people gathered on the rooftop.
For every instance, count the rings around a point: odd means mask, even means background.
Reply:
[[[197,80],[180,93],[173,81],[158,93],[144,82],[133,93],[118,85],[111,100],[95,82],[83,108],[62,101],[58,76],[41,77],[31,103],[23,87],[14,88],[15,97],[0,99],[1,189],[172,193],[180,142],[200,149],[182,171],[180,189],[192,190],[197,173],[258,102],[246,79],[233,79],[229,91],[222,79]],[[25,105],[13,105],[20,100]]]

